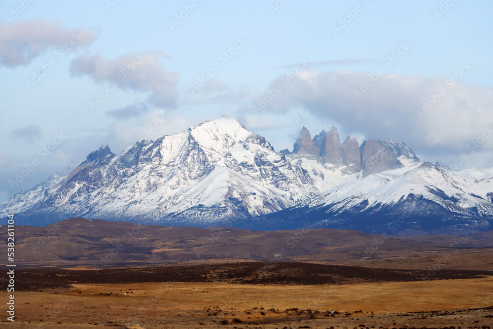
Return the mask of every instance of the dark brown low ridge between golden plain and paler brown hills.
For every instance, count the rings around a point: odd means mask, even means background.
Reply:
[[[400,270],[303,262],[237,262],[226,264],[161,265],[95,270],[20,269],[20,291],[70,288],[73,284],[148,282],[223,282],[238,284],[344,285],[353,282],[412,282],[431,280],[426,270]],[[492,271],[440,270],[434,280],[484,278]],[[298,327],[303,328],[303,327]],[[310,327],[309,327],[310,328]]]

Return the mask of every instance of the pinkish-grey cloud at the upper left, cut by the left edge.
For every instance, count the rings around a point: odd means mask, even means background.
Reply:
[[[17,67],[29,64],[49,49],[66,50],[90,45],[96,35],[81,28],[67,29],[46,21],[0,24],[0,65]]]

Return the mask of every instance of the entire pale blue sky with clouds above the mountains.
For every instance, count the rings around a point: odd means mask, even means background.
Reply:
[[[0,201],[102,144],[118,153],[222,114],[276,150],[302,126],[336,125],[342,140],[491,168],[492,12],[487,0],[0,1]]]

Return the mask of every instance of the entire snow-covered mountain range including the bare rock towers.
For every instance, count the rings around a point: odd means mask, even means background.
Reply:
[[[303,225],[429,234],[492,229],[493,169],[451,171],[420,162],[404,143],[314,138],[276,152],[228,116],[140,141],[107,145],[79,166],[0,204],[19,224],[71,217],[257,230]]]

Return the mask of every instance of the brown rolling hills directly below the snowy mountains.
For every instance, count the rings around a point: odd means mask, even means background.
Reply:
[[[6,241],[6,225],[0,227],[0,237]],[[493,270],[493,232],[472,232],[462,237],[389,237],[328,228],[248,231],[142,226],[74,218],[45,227],[16,225],[15,238],[18,266],[66,263],[107,268],[236,258],[387,268]],[[5,249],[6,245],[1,248]]]

